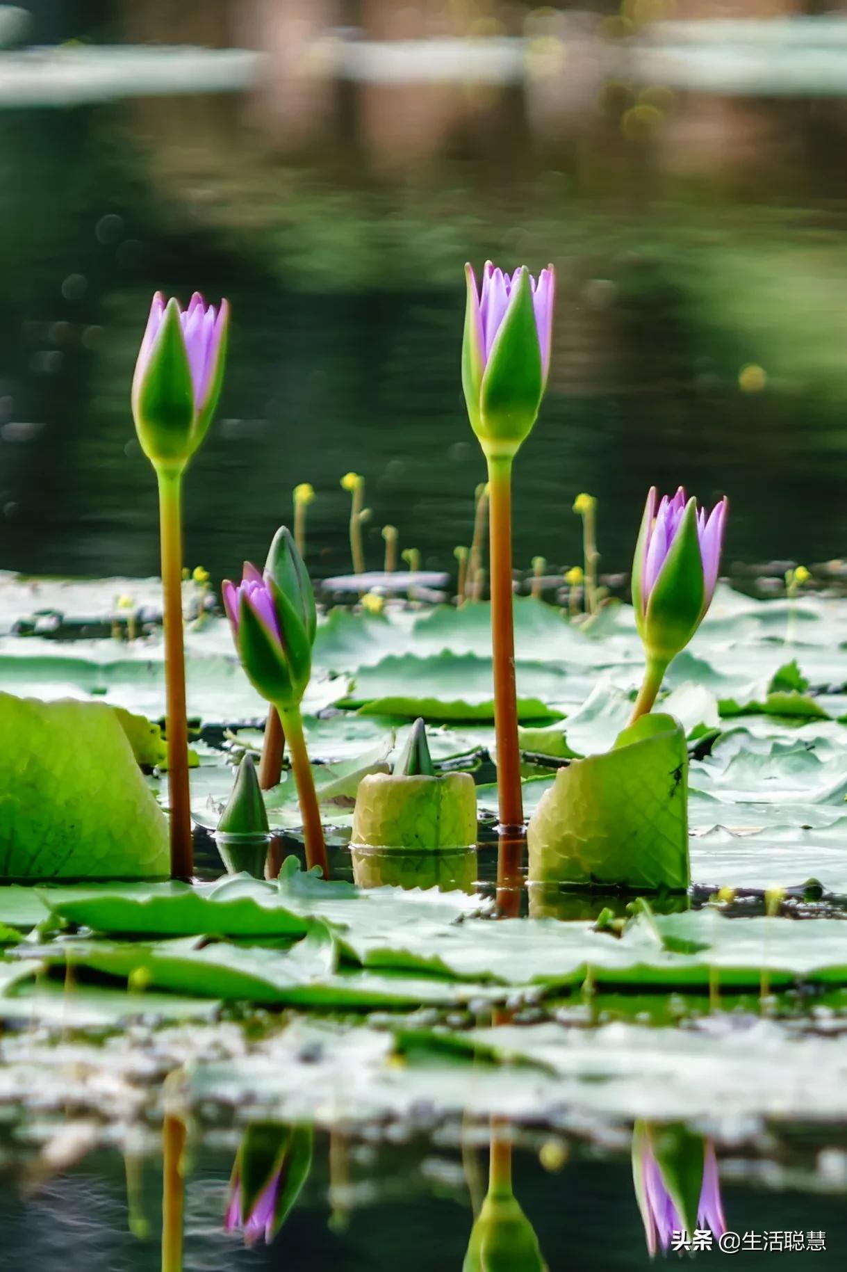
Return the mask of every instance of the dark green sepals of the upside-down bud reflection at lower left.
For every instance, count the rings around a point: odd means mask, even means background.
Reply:
[[[240,1184],[242,1222],[245,1224],[265,1189],[280,1175],[271,1238],[289,1217],[312,1170],[314,1132],[308,1126],[251,1122],[244,1131],[230,1187]]]

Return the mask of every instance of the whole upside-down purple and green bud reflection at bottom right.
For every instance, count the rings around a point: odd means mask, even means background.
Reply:
[[[712,1144],[683,1126],[636,1122],[632,1178],[647,1250],[665,1253],[674,1233],[726,1231]]]

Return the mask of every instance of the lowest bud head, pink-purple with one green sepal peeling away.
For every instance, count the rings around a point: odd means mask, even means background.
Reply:
[[[253,687],[276,707],[299,703],[312,674],[317,617],[309,575],[289,530],[277,532],[263,574],[245,562],[242,581],[226,580],[223,591]]]

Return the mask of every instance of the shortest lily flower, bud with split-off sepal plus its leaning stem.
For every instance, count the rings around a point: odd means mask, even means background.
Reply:
[[[317,613],[312,581],[291,534],[281,527],[263,574],[247,562],[240,584],[224,583],[233,640],[247,677],[276,709],[298,786],[306,865],[329,876],[300,702],[312,675]]]

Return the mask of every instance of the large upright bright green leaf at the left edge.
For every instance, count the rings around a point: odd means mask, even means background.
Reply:
[[[0,693],[0,874],[168,873],[168,827],[103,703]]]

